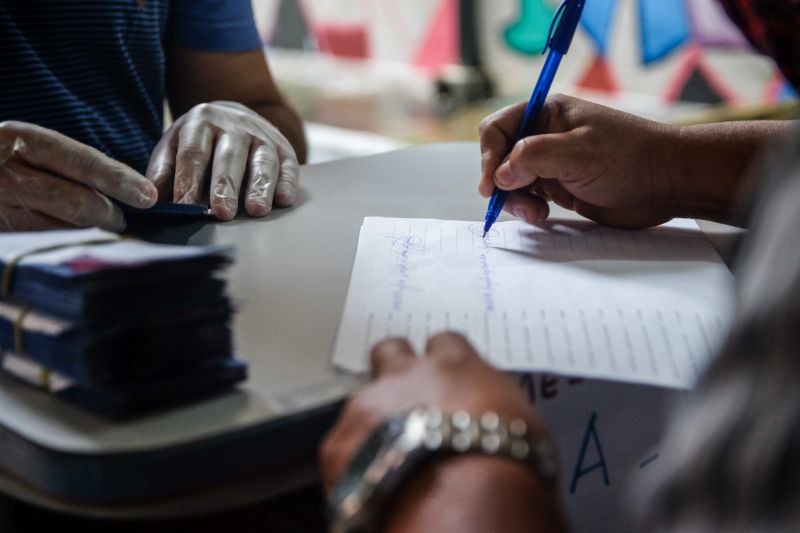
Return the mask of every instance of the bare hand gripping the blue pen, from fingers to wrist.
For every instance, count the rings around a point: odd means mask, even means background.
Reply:
[[[507,107],[481,123],[481,195],[491,196],[495,185],[514,191],[505,210],[529,223],[547,218],[548,201],[626,228],[676,216],[669,154],[677,128],[555,95],[540,117],[542,134],[512,145],[525,106]]]

